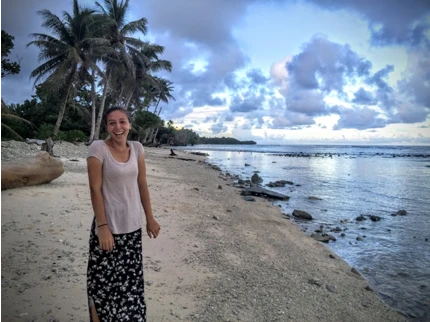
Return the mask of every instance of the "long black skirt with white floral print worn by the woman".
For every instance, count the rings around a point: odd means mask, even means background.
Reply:
[[[142,229],[115,234],[113,238],[114,249],[111,252],[102,250],[93,221],[87,272],[89,308],[95,306],[102,322],[144,322]],[[91,309],[90,321],[93,321]]]

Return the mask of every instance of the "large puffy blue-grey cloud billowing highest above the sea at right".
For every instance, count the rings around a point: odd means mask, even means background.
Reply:
[[[305,44],[303,51],[287,63],[294,83],[302,89],[343,93],[346,79],[369,74],[371,63],[351,50],[321,36]]]

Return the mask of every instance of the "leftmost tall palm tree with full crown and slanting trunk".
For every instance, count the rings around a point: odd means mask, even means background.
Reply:
[[[66,110],[67,99],[77,82],[79,75],[85,74],[88,68],[88,49],[90,44],[90,23],[94,10],[81,8],[77,0],[73,0],[73,15],[63,12],[64,20],[45,9],[38,11],[44,22],[43,27],[51,31],[53,36],[33,33],[36,40],[27,46],[34,45],[40,49],[39,60],[43,63],[31,73],[34,83],[47,77],[46,81],[57,87],[62,94],[57,122],[52,135],[55,137],[60,129]]]

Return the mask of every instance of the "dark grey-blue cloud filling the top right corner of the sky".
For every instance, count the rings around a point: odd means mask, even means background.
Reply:
[[[417,45],[426,40],[430,29],[428,0],[332,1],[309,0],[323,8],[352,9],[369,20],[371,41],[375,45]]]

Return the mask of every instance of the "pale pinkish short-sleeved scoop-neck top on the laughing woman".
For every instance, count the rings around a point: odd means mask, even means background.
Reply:
[[[137,177],[138,159],[144,149],[137,141],[127,141],[127,144],[130,158],[124,163],[113,158],[103,140],[94,141],[88,148],[87,159],[95,157],[103,164],[102,194],[105,216],[112,234],[131,233],[142,228],[143,207]]]

